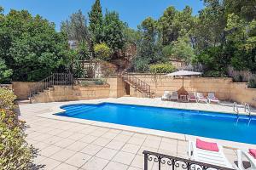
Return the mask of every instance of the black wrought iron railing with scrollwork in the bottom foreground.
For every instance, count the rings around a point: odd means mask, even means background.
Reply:
[[[148,161],[152,161],[157,163],[158,170],[161,169],[161,167],[167,166],[167,169],[172,169],[172,170],[235,170],[232,168],[228,167],[219,167],[216,165],[208,164],[208,163],[203,163],[200,161],[191,161],[188,159],[183,159],[180,157],[175,157],[175,156],[167,156],[164,154],[156,153],[156,152],[151,152],[144,150],[143,151],[144,155],[144,170],[148,170]],[[162,168],[164,169],[164,168]],[[166,167],[165,167],[166,169]]]

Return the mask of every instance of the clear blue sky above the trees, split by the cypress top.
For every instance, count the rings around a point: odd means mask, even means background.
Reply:
[[[82,9],[88,14],[95,0],[0,0],[0,6],[5,8],[5,14],[10,8],[27,9],[30,13],[40,14],[49,21],[55,22],[56,30],[60,29],[61,20],[66,20],[70,14]],[[158,19],[168,6],[182,10],[186,5],[193,8],[193,14],[198,14],[204,8],[201,0],[102,0],[103,12],[115,10],[120,19],[131,28],[137,28],[146,17]]]

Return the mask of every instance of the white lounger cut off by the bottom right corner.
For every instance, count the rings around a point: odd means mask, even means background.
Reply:
[[[251,167],[245,168],[243,167],[242,158],[246,157],[246,161],[249,161]],[[237,164],[240,170],[255,170],[256,169],[256,159],[245,150],[237,150]]]

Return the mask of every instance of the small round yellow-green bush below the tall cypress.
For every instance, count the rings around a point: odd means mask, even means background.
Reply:
[[[94,46],[96,58],[102,60],[110,59],[111,50],[106,43],[98,43]]]

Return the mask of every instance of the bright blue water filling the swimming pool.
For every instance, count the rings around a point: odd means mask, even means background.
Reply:
[[[66,111],[58,116],[256,144],[256,116],[252,116],[248,125],[247,116],[240,116],[236,123],[236,115],[208,111],[111,103],[64,105],[61,108]]]

